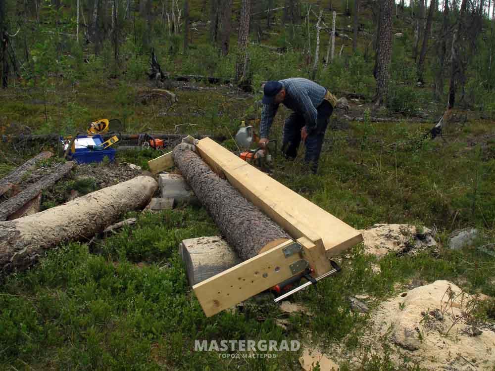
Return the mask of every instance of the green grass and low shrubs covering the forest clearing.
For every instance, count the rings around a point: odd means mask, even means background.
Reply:
[[[199,0],[191,2],[196,9],[192,18],[205,20],[207,11],[199,13],[200,6]],[[339,12],[343,4],[334,6]],[[330,23],[330,14],[325,16]],[[361,23],[368,33],[373,32],[370,18],[370,9],[365,8]],[[337,22],[344,28],[351,20],[339,15]],[[406,28],[402,18],[394,22],[397,30]],[[127,27],[131,30],[129,24]],[[138,21],[137,28],[139,34],[144,23]],[[193,34],[192,47],[184,55],[180,38],[168,37],[163,27],[153,28],[151,44],[163,69],[171,74],[231,77],[235,33],[231,35],[231,55],[220,58],[214,47],[205,44],[206,29],[200,27]],[[350,31],[348,34],[351,36]],[[60,59],[60,64],[40,64],[43,69],[36,80],[15,82],[15,86],[2,90],[0,100],[5,104],[0,107],[0,134],[10,134],[9,125],[19,123],[36,134],[71,135],[84,132],[96,119],[118,118],[128,133],[177,132],[230,138],[242,120],[258,125],[260,106],[256,100],[261,98],[262,81],[307,77],[310,69],[298,49],[306,45],[305,33],[296,32],[291,37],[286,27],[279,33],[266,33],[262,43],[290,43],[294,49],[289,47],[287,53],[279,55],[255,44],[249,46],[253,96],[233,94],[229,86],[199,84],[216,89],[176,89],[178,103],[155,99],[144,104],[143,93],[153,87],[144,80],[148,48],[141,45],[140,35],[135,44],[132,35],[122,43],[117,80],[108,78],[114,73],[108,44],[98,56],[91,47],[83,50],[66,45],[66,54],[84,55],[90,63],[73,62],[78,59],[67,56]],[[391,94],[383,114],[414,115],[420,110],[437,109],[429,89],[415,86],[412,38],[405,32],[404,37],[394,39]],[[343,42],[347,41],[337,39],[337,52]],[[368,42],[364,34],[360,35],[357,55],[351,55],[350,45],[346,46],[342,59],[336,58],[327,70],[318,70],[317,80],[337,94],[356,92],[371,98],[375,90],[371,75],[374,58],[373,53],[365,53]],[[320,55],[326,54],[327,43],[328,36],[322,33]],[[46,52],[47,60],[53,61],[52,44],[37,44],[32,53]],[[433,81],[432,72],[425,72],[427,81]],[[62,74],[63,81],[57,73]],[[491,96],[484,94],[480,105],[490,108]],[[288,114],[288,110],[280,109],[272,127],[272,138],[278,140],[279,147]],[[371,115],[370,109],[363,113],[365,117]],[[413,279],[448,279],[468,292],[494,296],[495,253],[490,245],[485,247],[495,237],[493,125],[482,120],[469,120],[464,126],[453,124],[447,130],[446,142],[431,141],[422,139],[433,126],[431,120],[417,123],[403,117],[401,123],[351,122],[348,130],[328,131],[317,176],[302,173],[302,154],[295,162],[277,156],[273,176],[358,229],[375,223],[435,228],[440,245],[435,254],[390,254],[378,260],[364,254],[358,245],[348,256],[339,258],[342,274],[294,296],[293,300],[309,307],[311,317],[288,317],[269,302],[251,300],[243,312],[224,311],[206,318],[187,284],[178,255],[182,239],[219,233],[204,209],[129,213],[138,218],[135,226],[97,238],[89,245],[82,241],[59,246],[30,271],[11,275],[0,285],[0,369],[299,370],[299,352],[283,352],[271,359],[226,359],[216,352],[195,352],[194,341],[307,341],[311,337],[320,339],[322,348],[344,343],[354,349],[359,347],[368,317],[350,311],[348,295],[368,293],[372,298],[368,304],[373,308]],[[232,139],[223,145],[235,149]],[[40,143],[13,148],[0,143],[0,175],[49,147]],[[119,151],[116,158],[148,170],[147,161],[156,155],[153,150]],[[52,192],[55,198],[45,197],[43,207],[63,202],[70,189],[86,193],[94,185],[75,180],[60,182]],[[484,237],[461,251],[446,248],[448,234],[466,226],[480,229]],[[373,265],[379,266],[380,272],[373,271]],[[493,321],[493,304],[482,311]],[[285,317],[290,321],[287,330],[275,322]],[[342,370],[419,370],[406,361],[393,365],[387,354],[367,354],[360,366],[341,366]]]

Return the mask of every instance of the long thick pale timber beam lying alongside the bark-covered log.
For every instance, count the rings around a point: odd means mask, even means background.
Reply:
[[[220,169],[233,186],[293,238],[307,237],[316,246],[323,246],[329,258],[362,241],[354,228],[212,139],[199,140],[196,148],[206,163]]]

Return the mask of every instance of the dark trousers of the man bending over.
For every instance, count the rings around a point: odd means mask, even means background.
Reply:
[[[325,137],[325,131],[327,130],[328,118],[333,112],[333,107],[327,100],[323,100],[318,106],[317,111],[316,128],[306,137],[304,142],[306,146],[304,162],[310,165],[313,174],[316,174],[318,170],[321,146]],[[297,112],[292,113],[285,121],[282,151],[287,159],[296,158],[297,148],[301,142],[301,129],[305,124],[304,117]]]

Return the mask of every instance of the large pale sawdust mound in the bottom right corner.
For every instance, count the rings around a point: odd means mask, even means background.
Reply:
[[[388,350],[397,365],[407,358],[427,370],[493,370],[495,327],[466,315],[484,298],[446,280],[416,287],[373,311],[359,350],[331,349],[327,354],[353,364],[363,348],[381,356]]]

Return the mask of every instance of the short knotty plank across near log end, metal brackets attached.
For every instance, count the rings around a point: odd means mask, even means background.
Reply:
[[[282,249],[294,241],[287,240],[254,258],[193,286],[206,317],[230,308],[294,276],[290,265],[301,260],[300,254],[285,257]]]

